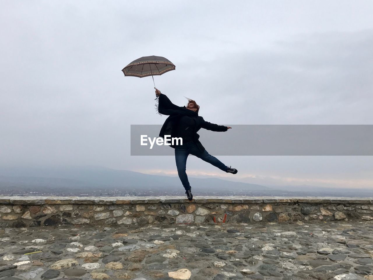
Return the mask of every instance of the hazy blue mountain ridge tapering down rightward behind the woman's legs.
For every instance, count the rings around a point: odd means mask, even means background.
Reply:
[[[246,189],[264,190],[268,187],[232,182],[219,178],[192,178],[191,186],[203,186],[204,189]],[[0,168],[0,186],[68,186],[68,187],[180,187],[179,177],[149,175],[128,170],[110,168]]]

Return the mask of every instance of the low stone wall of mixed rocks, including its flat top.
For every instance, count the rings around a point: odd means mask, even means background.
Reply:
[[[0,227],[62,224],[373,222],[373,198],[0,196]]]

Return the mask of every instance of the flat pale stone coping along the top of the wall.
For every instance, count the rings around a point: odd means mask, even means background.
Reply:
[[[373,197],[282,197],[282,196],[0,196],[0,204],[140,204],[140,203],[360,203],[373,204]]]

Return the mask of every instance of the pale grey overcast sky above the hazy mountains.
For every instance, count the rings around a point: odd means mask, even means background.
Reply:
[[[151,77],[121,72],[149,55],[176,65],[154,78],[157,88],[180,106],[195,99],[209,122],[372,124],[370,0],[0,3],[2,166],[176,175],[172,156],[130,156],[130,125],[166,119],[155,112]],[[194,157],[187,172],[373,189],[372,156],[219,159],[238,174]]]

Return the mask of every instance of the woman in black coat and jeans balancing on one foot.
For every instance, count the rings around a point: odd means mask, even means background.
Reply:
[[[211,124],[211,122],[207,122],[201,116],[198,116],[200,106],[194,100],[188,99],[186,107],[179,107],[172,104],[168,97],[157,90],[157,88],[156,96],[159,98],[158,112],[163,115],[169,115],[161,128],[159,136],[163,139],[165,135],[182,138],[182,145],[170,146],[175,149],[176,168],[178,169],[179,178],[189,200],[193,199],[191,186],[185,172],[186,159],[189,154],[197,156],[197,158],[203,159],[225,172],[237,173],[237,169],[228,167],[219,161],[219,159],[211,156],[198,140],[200,136],[197,134],[197,131],[201,128],[212,131],[227,131],[231,127]]]

